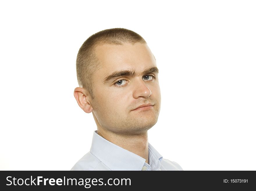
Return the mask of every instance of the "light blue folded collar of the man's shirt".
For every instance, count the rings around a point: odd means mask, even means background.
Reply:
[[[148,143],[148,151],[149,164],[154,165],[152,169],[159,169],[163,157],[150,143]],[[90,152],[111,170],[141,170],[146,161],[141,156],[104,139],[97,134],[97,130],[93,132]]]

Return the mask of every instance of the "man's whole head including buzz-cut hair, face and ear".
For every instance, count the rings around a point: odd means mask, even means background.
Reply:
[[[98,129],[139,134],[156,124],[161,107],[158,69],[146,41],[124,28],[91,35],[77,55],[74,96],[93,112]],[[143,104],[152,105],[134,110]]]

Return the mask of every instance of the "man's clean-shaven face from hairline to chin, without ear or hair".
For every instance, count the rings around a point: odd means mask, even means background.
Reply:
[[[95,53],[101,67],[93,76],[95,99],[90,104],[98,128],[132,135],[154,126],[160,112],[161,93],[157,72],[142,73],[157,67],[147,44],[104,44],[97,46]],[[120,70],[134,70],[136,76],[122,74],[104,81]],[[134,110],[143,104],[153,106]]]

